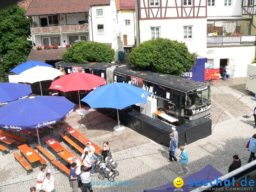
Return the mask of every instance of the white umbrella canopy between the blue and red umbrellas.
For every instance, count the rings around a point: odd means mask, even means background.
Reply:
[[[47,66],[35,66],[31,69],[23,71],[18,75],[18,82],[29,82],[34,83],[44,80],[53,80],[54,78],[63,75],[63,73],[58,70]]]

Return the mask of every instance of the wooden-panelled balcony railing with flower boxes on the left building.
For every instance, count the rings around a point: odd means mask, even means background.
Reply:
[[[88,24],[32,27],[32,34],[60,33],[60,31],[61,32],[73,32],[73,31],[88,31],[88,30],[89,30]]]

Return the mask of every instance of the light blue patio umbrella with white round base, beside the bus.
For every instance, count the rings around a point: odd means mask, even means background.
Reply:
[[[103,85],[90,92],[81,101],[86,102],[91,108],[117,109],[118,126],[114,130],[123,130],[119,124],[118,110],[135,103],[145,103],[150,92],[127,83],[111,83]]]

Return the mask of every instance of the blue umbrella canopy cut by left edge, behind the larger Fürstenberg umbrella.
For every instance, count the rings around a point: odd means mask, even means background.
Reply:
[[[32,94],[31,86],[17,83],[0,83],[0,106]]]

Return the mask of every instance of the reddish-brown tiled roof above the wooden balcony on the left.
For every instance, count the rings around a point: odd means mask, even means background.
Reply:
[[[110,0],[32,0],[25,16],[88,12],[90,5],[110,5]]]

